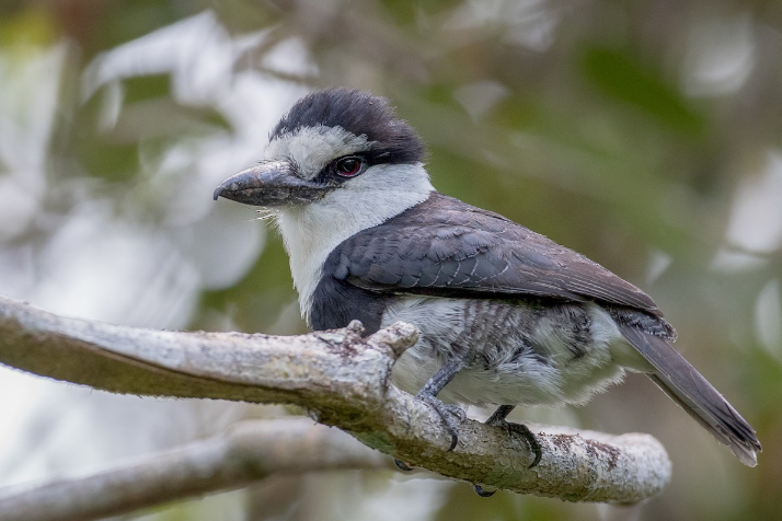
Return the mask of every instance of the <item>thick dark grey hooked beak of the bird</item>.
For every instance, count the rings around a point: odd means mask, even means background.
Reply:
[[[307,205],[323,197],[329,188],[296,175],[289,161],[269,161],[220,183],[215,200],[225,197],[254,206]]]

